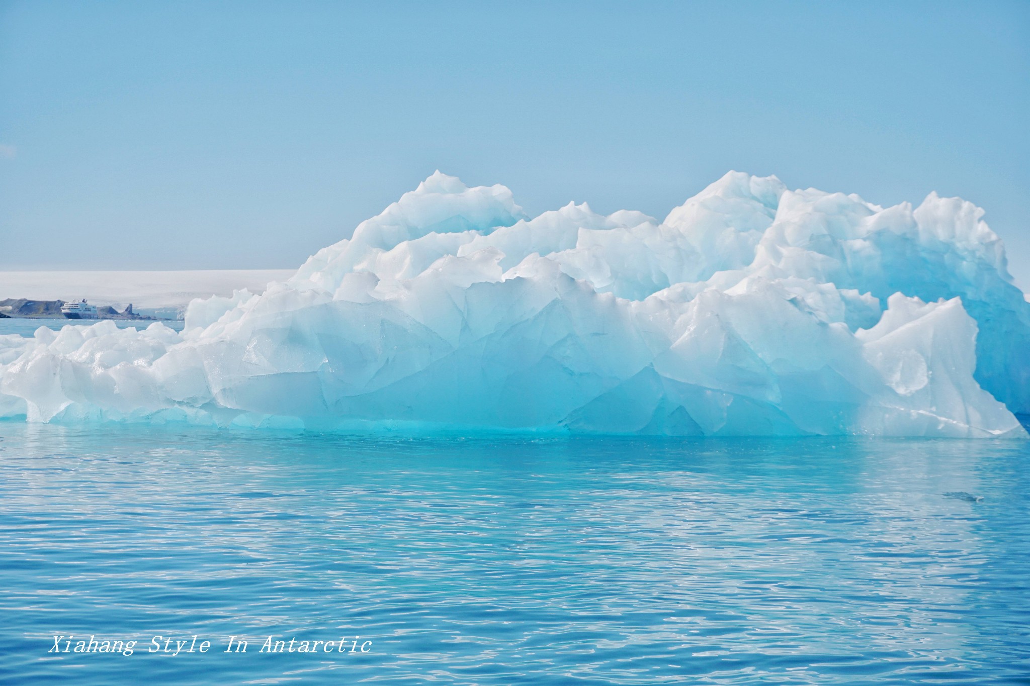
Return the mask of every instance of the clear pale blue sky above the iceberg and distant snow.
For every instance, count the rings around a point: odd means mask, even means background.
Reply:
[[[293,267],[440,169],[663,217],[729,169],[985,207],[1030,2],[0,3],[0,268]]]

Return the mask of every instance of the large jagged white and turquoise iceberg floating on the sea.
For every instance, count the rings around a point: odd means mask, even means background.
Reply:
[[[194,300],[181,334],[0,337],[0,416],[1023,436],[1030,304],[982,216],[730,172],[663,222],[530,218],[438,172],[264,294]]]

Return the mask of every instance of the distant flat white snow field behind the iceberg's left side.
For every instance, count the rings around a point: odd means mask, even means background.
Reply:
[[[197,297],[230,296],[246,288],[263,293],[271,281],[296,269],[198,269],[188,272],[0,272],[0,300],[80,300],[122,309],[179,310]]]

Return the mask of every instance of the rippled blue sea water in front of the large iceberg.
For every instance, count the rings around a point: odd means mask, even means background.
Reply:
[[[4,684],[1030,683],[1024,441],[0,438]]]

